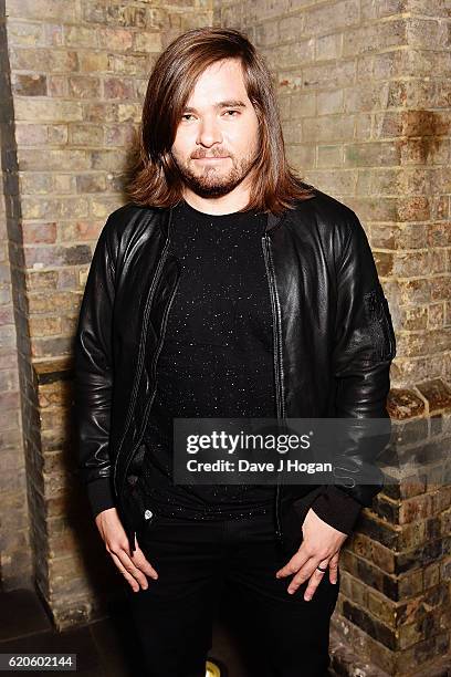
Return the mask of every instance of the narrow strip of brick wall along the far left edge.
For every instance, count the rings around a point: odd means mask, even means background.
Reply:
[[[6,33],[0,7],[0,584],[3,590],[31,582],[25,461],[23,454],[21,383],[19,379],[14,319],[14,271],[10,263],[8,226],[14,192],[8,170],[13,168],[14,137],[9,121],[12,101],[9,86]],[[8,209],[7,209],[8,206]]]

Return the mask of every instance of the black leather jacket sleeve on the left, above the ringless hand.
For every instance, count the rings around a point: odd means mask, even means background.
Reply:
[[[114,262],[106,221],[86,280],[74,344],[77,466],[93,515],[115,506],[109,459]]]

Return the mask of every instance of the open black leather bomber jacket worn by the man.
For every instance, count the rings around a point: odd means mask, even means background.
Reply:
[[[169,250],[171,216],[171,209],[128,204],[108,217],[75,336],[80,473],[93,514],[115,506],[132,549],[141,515],[133,512],[129,466],[143,445],[179,283],[179,263]],[[315,189],[295,209],[269,213],[262,248],[273,311],[277,418],[388,418],[395,335],[355,212]],[[350,459],[358,466],[364,455],[357,440],[343,451],[340,465]],[[349,533],[381,487],[358,479],[353,488],[279,485],[277,537],[285,543],[291,538],[292,506],[306,494],[319,517]]]

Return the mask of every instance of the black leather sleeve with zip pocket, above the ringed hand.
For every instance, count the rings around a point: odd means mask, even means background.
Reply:
[[[376,461],[390,439],[386,403],[396,341],[373,253],[354,211],[345,243],[337,249],[342,253],[336,261],[334,416],[353,420],[346,421],[349,434],[334,455],[335,483],[324,487],[312,508],[325,522],[350,534],[363,507],[369,507],[384,486]],[[368,419],[375,418],[382,420],[371,428]]]

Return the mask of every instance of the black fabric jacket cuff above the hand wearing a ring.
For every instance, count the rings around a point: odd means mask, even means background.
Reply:
[[[343,489],[331,485],[313,501],[311,508],[324,522],[349,535],[363,506]]]

